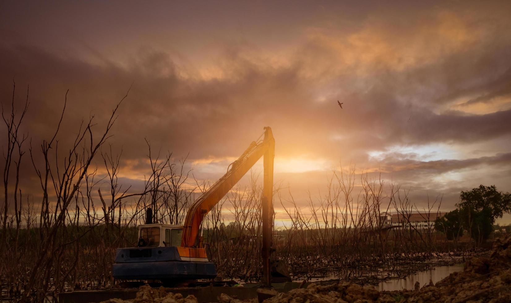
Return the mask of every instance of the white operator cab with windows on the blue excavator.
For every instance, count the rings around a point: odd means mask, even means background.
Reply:
[[[137,247],[181,246],[183,226],[174,224],[143,224],[138,226]]]

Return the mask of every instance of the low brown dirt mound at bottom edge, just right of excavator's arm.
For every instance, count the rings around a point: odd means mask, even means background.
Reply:
[[[372,286],[341,282],[328,286],[311,284],[306,289],[293,289],[287,293],[279,293],[264,302],[396,302],[396,299],[391,295],[378,292]]]

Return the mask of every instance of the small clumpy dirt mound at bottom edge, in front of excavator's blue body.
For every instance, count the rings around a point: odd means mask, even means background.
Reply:
[[[101,303],[198,303],[198,301],[193,295],[183,298],[180,293],[168,293],[163,287],[152,288],[146,284],[138,288],[133,300],[109,299]]]

